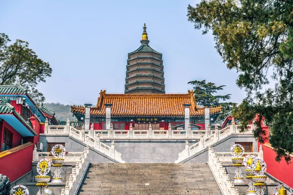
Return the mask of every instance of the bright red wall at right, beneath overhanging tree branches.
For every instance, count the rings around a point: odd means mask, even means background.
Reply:
[[[279,179],[286,185],[293,187],[293,163],[287,164],[284,159],[281,159],[280,162],[276,162],[275,152],[266,145],[263,145],[264,151],[264,161],[267,163],[267,172],[268,174]]]

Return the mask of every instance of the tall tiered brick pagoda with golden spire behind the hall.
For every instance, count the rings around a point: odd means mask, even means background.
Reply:
[[[141,43],[128,53],[125,94],[165,94],[162,54],[148,45],[146,23]]]

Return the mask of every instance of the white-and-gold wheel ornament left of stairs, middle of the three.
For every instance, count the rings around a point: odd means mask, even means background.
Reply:
[[[47,174],[50,172],[50,169],[51,163],[46,158],[41,159],[37,164],[37,172],[39,176],[35,176],[35,179],[37,181],[36,186],[39,188],[38,195],[45,195],[45,189],[48,186],[48,182],[51,178],[50,176],[47,176]]]

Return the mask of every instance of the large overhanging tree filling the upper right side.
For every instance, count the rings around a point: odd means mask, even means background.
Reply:
[[[293,0],[202,0],[188,5],[187,16],[195,29],[212,32],[227,67],[239,73],[236,83],[247,98],[235,117],[245,125],[257,115],[254,136],[261,142],[264,117],[276,160],[284,156],[288,162],[293,154]],[[270,76],[272,88],[266,86]]]

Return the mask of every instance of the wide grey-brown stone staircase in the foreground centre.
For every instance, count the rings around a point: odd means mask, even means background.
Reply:
[[[206,163],[90,164],[78,195],[221,195]]]

